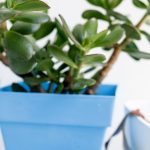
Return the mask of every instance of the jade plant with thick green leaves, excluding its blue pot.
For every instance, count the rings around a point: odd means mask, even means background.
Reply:
[[[150,0],[132,0],[145,14],[134,25],[117,12],[123,0],[87,0],[96,10],[83,12],[83,24],[73,29],[60,15],[51,19],[49,6],[40,0],[6,0],[0,3],[0,61],[20,76],[28,88],[14,83],[22,92],[95,94],[121,52],[135,60],[150,59],[137,46],[141,28],[150,15]],[[98,26],[106,22],[105,30]],[[148,21],[147,21],[148,23]],[[45,39],[44,45],[38,42]],[[94,48],[110,51],[110,58],[93,53]],[[90,77],[87,77],[90,74]],[[43,87],[43,83],[48,85]]]

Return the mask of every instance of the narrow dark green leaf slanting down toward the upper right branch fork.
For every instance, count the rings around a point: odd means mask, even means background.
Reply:
[[[110,10],[110,11],[108,11],[108,13],[110,16],[113,16],[117,20],[125,21],[126,23],[132,24],[132,22],[128,19],[127,16],[125,16],[119,12]]]

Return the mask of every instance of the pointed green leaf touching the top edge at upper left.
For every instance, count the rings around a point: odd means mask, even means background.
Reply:
[[[21,11],[41,11],[47,10],[50,7],[40,0],[27,0],[14,6],[13,9]]]

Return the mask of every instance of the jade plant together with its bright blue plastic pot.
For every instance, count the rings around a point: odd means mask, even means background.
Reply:
[[[135,44],[141,34],[149,39],[140,29],[149,11],[133,25],[115,10],[122,0],[88,2],[104,13],[85,11],[85,23],[73,30],[61,15],[51,19],[43,1],[0,4],[0,60],[24,81],[1,89],[0,126],[6,149],[103,149],[116,86],[101,83],[121,51],[136,60],[150,58]],[[147,10],[141,1],[133,2]],[[98,20],[107,22],[105,30],[98,30]],[[113,52],[106,59],[93,54],[94,48]]]

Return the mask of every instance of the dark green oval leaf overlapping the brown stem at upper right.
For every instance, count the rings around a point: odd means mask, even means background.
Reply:
[[[125,29],[126,36],[128,38],[135,39],[135,40],[141,39],[140,32],[132,25],[123,24],[122,27]]]

